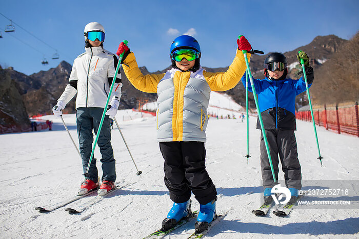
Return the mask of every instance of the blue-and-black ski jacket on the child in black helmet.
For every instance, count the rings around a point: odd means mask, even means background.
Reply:
[[[306,69],[308,86],[314,80],[312,67]],[[246,87],[246,74],[242,77],[242,83]],[[306,91],[304,78],[286,78],[279,81],[265,79],[253,79],[255,91],[258,95],[263,125],[266,130],[286,129],[296,130],[295,124],[295,96]],[[248,78],[248,90],[252,87]],[[257,129],[261,129],[259,118]]]

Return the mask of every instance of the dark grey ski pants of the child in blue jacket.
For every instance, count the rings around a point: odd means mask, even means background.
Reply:
[[[302,188],[301,165],[298,160],[298,152],[294,130],[266,130],[270,156],[272,159],[274,174],[278,180],[278,154],[281,159],[284,180],[287,188]],[[275,185],[269,164],[266,146],[261,133],[261,168],[263,187],[271,188]]]

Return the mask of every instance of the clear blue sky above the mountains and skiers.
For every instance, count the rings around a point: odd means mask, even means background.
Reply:
[[[200,43],[201,65],[226,67],[233,60],[236,38],[247,37],[265,53],[294,50],[317,35],[350,39],[359,30],[359,1],[8,1],[0,0],[0,65],[30,75],[72,65],[84,52],[83,30],[89,22],[105,28],[105,49],[116,52],[129,42],[139,66],[149,71],[170,65],[175,37],[190,32]],[[39,41],[31,34],[31,32]],[[46,43],[46,44],[45,44]],[[59,59],[51,59],[56,52]],[[49,65],[41,64],[47,58]]]

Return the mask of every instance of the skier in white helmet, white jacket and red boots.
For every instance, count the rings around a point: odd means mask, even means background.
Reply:
[[[97,141],[102,154],[103,176],[102,184],[98,191],[98,193],[101,193],[115,188],[116,170],[111,146],[110,117],[114,117],[117,113],[122,83],[119,72],[116,79],[113,79],[118,63],[116,55],[103,48],[105,40],[104,27],[96,22],[89,23],[85,26],[84,35],[86,52],[77,56],[73,62],[69,84],[52,110],[56,116],[62,115],[62,110],[66,104],[77,93],[76,124],[79,149],[85,173],[92,152],[92,130],[97,134],[107,97],[111,93],[109,92],[110,86],[112,81],[115,81],[111,94],[113,96],[110,105],[108,105],[105,120]],[[89,176],[78,191],[79,195],[98,188],[96,158],[92,158],[88,173]]]

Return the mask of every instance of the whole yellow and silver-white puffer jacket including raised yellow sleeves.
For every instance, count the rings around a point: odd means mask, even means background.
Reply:
[[[250,58],[250,54],[248,58]],[[172,68],[164,74],[143,75],[133,53],[122,65],[132,85],[143,92],[157,92],[157,141],[206,142],[210,92],[232,89],[246,71],[242,51],[226,72],[182,72]]]

